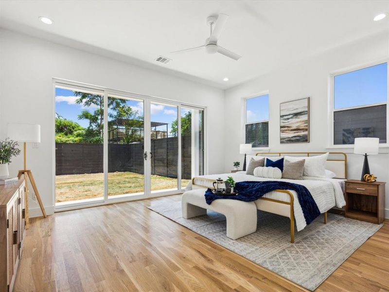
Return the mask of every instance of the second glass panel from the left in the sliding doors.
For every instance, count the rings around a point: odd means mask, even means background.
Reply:
[[[144,194],[143,100],[108,95],[109,198]]]

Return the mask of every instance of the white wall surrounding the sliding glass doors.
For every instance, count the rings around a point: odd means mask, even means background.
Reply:
[[[207,107],[209,172],[223,170],[220,141],[212,134],[224,127],[223,115],[217,115],[223,105],[223,90],[1,29],[0,138],[5,138],[7,123],[41,125],[41,143],[39,148],[27,146],[27,163],[48,214],[53,213],[54,205],[53,77]],[[22,155],[14,158],[10,174],[16,175],[22,163]],[[33,201],[30,210],[31,215],[39,214]]]

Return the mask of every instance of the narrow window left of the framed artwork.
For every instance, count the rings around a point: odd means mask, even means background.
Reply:
[[[246,99],[246,143],[269,146],[269,94]]]

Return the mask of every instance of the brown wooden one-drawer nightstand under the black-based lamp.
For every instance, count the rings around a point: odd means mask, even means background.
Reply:
[[[347,218],[380,224],[385,217],[385,183],[346,181]]]

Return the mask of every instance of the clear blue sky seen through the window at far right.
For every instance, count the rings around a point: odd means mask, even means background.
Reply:
[[[387,63],[335,76],[335,109],[387,101]]]

